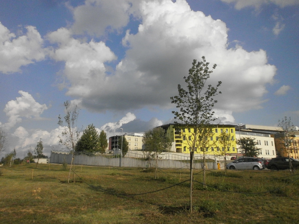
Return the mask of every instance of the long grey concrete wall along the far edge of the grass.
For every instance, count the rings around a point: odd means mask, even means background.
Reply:
[[[60,163],[62,164],[64,161],[68,164],[71,163],[72,155],[71,154],[61,154],[61,153],[53,153],[51,152],[50,162],[51,163]],[[78,155],[75,156],[75,164],[80,165],[91,165],[91,166],[115,166],[120,167],[120,160],[121,158],[106,158],[103,156],[93,156],[89,157],[86,155]],[[156,160],[143,160],[138,158],[130,158],[125,157],[123,158],[122,166],[123,167],[155,167]],[[158,167],[159,168],[186,168],[188,169],[190,166],[188,162],[182,162],[179,160],[171,160],[171,159],[158,159]],[[194,163],[194,168],[202,169],[203,163],[197,162]],[[208,169],[216,169],[217,164],[216,162],[208,162],[207,163]]]

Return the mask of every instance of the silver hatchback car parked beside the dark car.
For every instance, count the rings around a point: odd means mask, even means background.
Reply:
[[[234,162],[230,162],[226,165],[227,169],[230,170],[262,170],[265,168],[264,163],[262,159],[260,158],[253,158],[253,157],[246,157],[246,158],[240,158],[236,159]]]

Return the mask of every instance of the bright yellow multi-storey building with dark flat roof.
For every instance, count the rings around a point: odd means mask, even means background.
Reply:
[[[194,136],[193,128],[175,128],[178,127],[176,124],[167,124],[159,126],[165,130],[165,134],[170,137],[173,142],[172,151],[179,153],[190,153],[192,147],[190,142]],[[210,155],[219,155],[224,148],[219,144],[219,136],[222,132],[229,133],[231,136],[231,146],[227,149],[227,154],[237,153],[236,147],[236,135],[235,135],[235,126],[234,125],[212,125],[212,133],[209,137],[210,147],[206,148],[206,154]],[[203,149],[195,149],[195,154],[203,154]]]

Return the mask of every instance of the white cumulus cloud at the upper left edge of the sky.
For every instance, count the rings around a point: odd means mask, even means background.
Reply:
[[[33,26],[27,26],[27,33],[16,37],[0,22],[0,71],[20,72],[22,65],[28,65],[45,58],[43,39]]]

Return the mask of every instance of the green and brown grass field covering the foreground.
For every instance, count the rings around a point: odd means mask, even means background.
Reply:
[[[0,168],[0,223],[298,223],[299,175],[288,177],[290,171],[229,170],[230,177],[223,176],[223,171],[207,172],[211,187],[204,190],[195,183],[196,211],[189,214],[189,182],[151,194],[113,195],[166,188],[187,180],[188,170],[159,170],[159,178],[154,179],[155,170],[83,166],[81,171],[76,166],[82,179],[76,177],[75,183],[68,184],[68,171],[62,165],[39,164],[45,170],[33,170],[33,179],[32,170],[21,171],[33,167]],[[202,182],[202,172],[194,179]],[[271,192],[238,194],[219,189]]]

